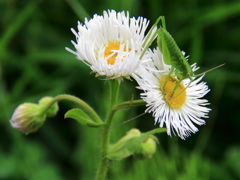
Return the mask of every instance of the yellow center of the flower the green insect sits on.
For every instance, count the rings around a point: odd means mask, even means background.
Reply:
[[[180,83],[178,87],[174,90],[177,83],[178,79],[168,75],[163,76],[160,81],[160,90],[164,95],[164,100],[171,108],[182,107],[187,98],[185,86],[183,85],[183,83]]]

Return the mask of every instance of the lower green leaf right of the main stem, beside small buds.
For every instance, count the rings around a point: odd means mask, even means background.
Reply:
[[[128,156],[133,155],[141,146],[141,143],[145,141],[150,135],[155,133],[166,132],[165,128],[157,128],[145,133],[141,133],[138,137],[133,137],[123,142],[118,148],[114,148],[107,153],[106,157],[110,160],[122,160]],[[114,147],[114,145],[112,145]],[[113,148],[112,148],[113,149]]]

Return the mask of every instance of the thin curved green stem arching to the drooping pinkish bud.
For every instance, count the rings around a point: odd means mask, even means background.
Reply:
[[[80,106],[80,108],[95,122],[102,123],[102,120],[97,115],[97,113],[83,100],[68,94],[62,94],[54,97],[42,110],[42,112],[47,111],[54,103],[61,101],[61,100],[68,100],[76,103]]]

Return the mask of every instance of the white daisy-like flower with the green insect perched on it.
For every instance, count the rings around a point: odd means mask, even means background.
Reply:
[[[202,77],[195,78],[193,82],[184,79],[176,90],[173,88],[178,82],[174,74],[169,76],[170,65],[163,61],[159,49],[149,51],[147,56],[152,59],[138,68],[133,78],[138,82],[141,98],[146,101],[146,112],[152,112],[155,123],[167,128],[167,134],[177,134],[185,139],[191,133],[198,131],[195,126],[205,124],[202,118],[208,118],[208,101],[202,99],[210,90],[205,82],[200,82]],[[196,71],[196,65],[192,70]]]

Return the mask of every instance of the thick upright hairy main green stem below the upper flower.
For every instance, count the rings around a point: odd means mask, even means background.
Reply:
[[[108,112],[105,125],[102,127],[101,133],[101,145],[100,145],[100,159],[96,174],[96,180],[105,180],[110,160],[106,158],[108,145],[109,145],[109,136],[110,131],[108,129],[111,126],[113,116],[115,114],[114,106],[117,102],[118,93],[119,93],[119,83],[116,80],[109,81],[110,85],[110,111]]]

